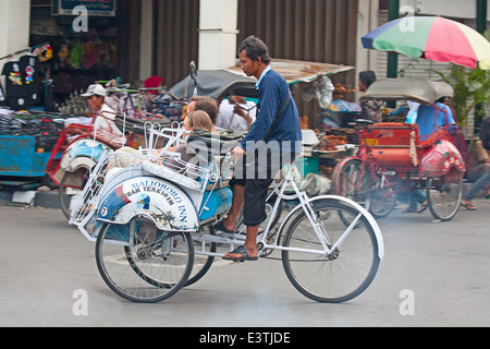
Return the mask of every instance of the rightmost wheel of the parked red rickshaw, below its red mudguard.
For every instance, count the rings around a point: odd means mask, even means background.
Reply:
[[[427,180],[427,202],[436,219],[452,219],[460,209],[462,195],[463,178],[454,168],[446,176]]]

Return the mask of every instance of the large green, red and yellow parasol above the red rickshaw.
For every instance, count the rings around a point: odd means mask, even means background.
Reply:
[[[490,43],[467,25],[440,16],[409,16],[388,22],[363,36],[368,49],[414,59],[453,62],[490,70]]]

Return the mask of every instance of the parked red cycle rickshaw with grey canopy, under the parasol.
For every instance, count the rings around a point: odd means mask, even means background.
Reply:
[[[417,193],[425,197],[436,219],[452,219],[462,198],[466,143],[458,124],[451,124],[448,112],[434,105],[441,97],[452,96],[451,85],[428,79],[375,82],[360,103],[375,98],[430,106],[432,132],[420,135],[417,122],[357,120],[359,148],[336,165],[333,193],[358,202],[377,218],[390,214],[397,194]],[[437,121],[441,117],[443,121]]]

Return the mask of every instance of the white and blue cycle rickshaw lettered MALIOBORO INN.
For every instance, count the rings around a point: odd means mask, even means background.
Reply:
[[[195,69],[191,72],[195,79]],[[230,149],[236,141],[219,133],[184,141],[183,133],[175,125],[148,123],[146,147],[135,154],[105,155],[72,210],[70,224],[96,243],[102,279],[133,302],[172,297],[199,280],[215,257],[245,242],[240,230],[215,229],[231,207]],[[156,153],[161,139],[164,147]],[[183,142],[197,163],[185,163],[169,151]],[[377,274],[384,255],[380,228],[350,198],[308,197],[296,185],[292,168],[283,169],[282,179],[272,183],[270,197],[277,198],[257,238],[259,255],[279,251],[287,278],[307,298],[348,301],[366,290]],[[297,204],[275,224],[283,200]],[[345,217],[351,219],[347,226],[341,219]]]

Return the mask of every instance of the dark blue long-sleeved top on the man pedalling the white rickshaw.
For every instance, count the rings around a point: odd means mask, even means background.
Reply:
[[[290,87],[279,73],[270,70],[258,86],[258,105],[259,109],[257,119],[252,125],[250,131],[241,142],[241,147],[246,151],[247,142],[267,141],[273,144],[275,141],[283,147],[283,142],[291,142],[291,149],[283,148],[292,153],[301,152],[302,130],[299,127],[299,115],[297,112],[296,103],[291,96],[285,110],[279,116],[278,121],[272,125],[275,115],[287,99]],[[271,129],[272,127],[272,129]],[[271,129],[268,140],[265,140],[269,129]],[[297,144],[296,144],[297,143]],[[249,145],[250,143],[248,143]],[[284,144],[285,145],[285,144]],[[296,145],[296,147],[295,147]]]

